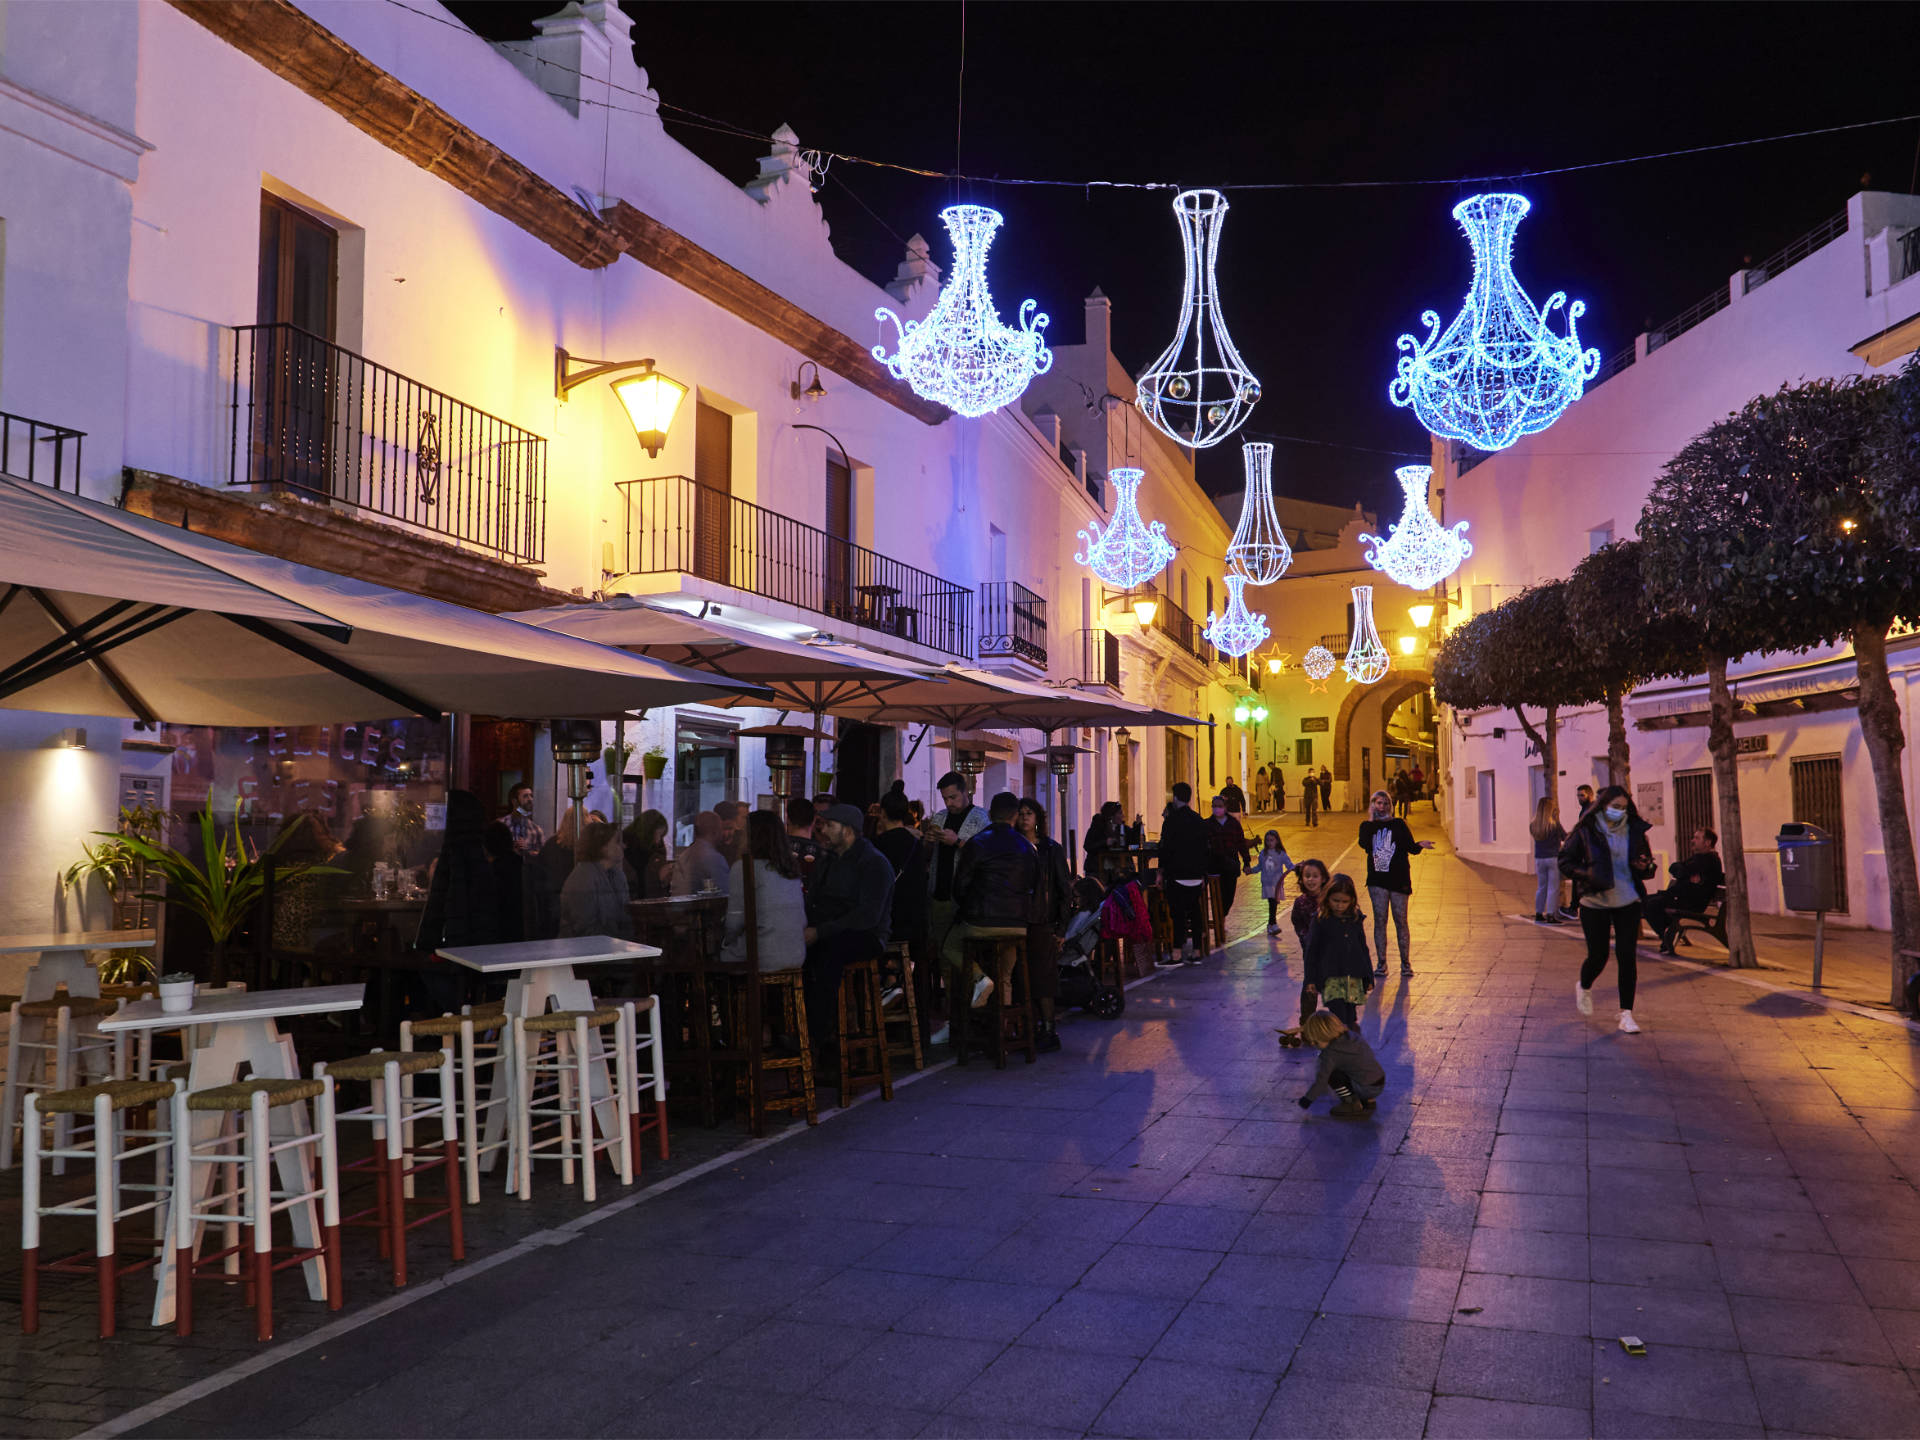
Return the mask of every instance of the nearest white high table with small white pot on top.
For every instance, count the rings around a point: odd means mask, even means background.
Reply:
[[[300,1056],[294,1054],[294,1041],[280,1033],[275,1023],[280,1016],[323,1016],[340,1010],[359,1010],[365,998],[363,985],[315,985],[301,991],[221,991],[217,995],[198,995],[188,1010],[161,1010],[159,1000],[134,1000],[119,1014],[100,1021],[108,1035],[119,1031],[144,1029],[190,1029],[192,1064],[186,1077],[188,1091],[211,1091],[217,1085],[232,1085],[240,1079],[240,1069],[265,1079],[300,1079]],[[311,1123],[305,1106],[275,1108],[269,1116],[273,1135],[309,1135]],[[221,1131],[225,1116],[194,1112],[194,1140],[211,1140]],[[280,1171],[282,1190],[309,1190],[311,1171],[305,1150],[288,1148],[275,1156]],[[198,1204],[213,1185],[211,1165],[192,1167],[192,1196]],[[301,1250],[315,1250],[321,1244],[321,1227],[315,1213],[317,1202],[294,1206],[286,1212],[294,1223],[294,1242]],[[200,1250],[200,1231],[194,1227],[194,1250]],[[173,1219],[167,1221],[173,1233]],[[307,1260],[301,1269],[307,1275],[307,1294],[313,1300],[326,1300],[326,1269],[319,1258]],[[173,1296],[179,1277],[173,1273],[173,1246],[159,1250],[154,1265],[154,1325],[173,1323]]]

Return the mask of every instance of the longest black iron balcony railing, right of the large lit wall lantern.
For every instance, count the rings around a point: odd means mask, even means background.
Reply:
[[[685,474],[622,480],[618,488],[626,497],[622,574],[708,580],[962,660],[973,659],[973,591],[966,586],[701,486]],[[1044,624],[1043,611],[1043,659]]]

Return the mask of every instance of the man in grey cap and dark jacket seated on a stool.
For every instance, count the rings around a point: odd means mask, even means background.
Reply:
[[[820,864],[806,887],[806,1027],[814,1058],[839,1039],[839,979],[849,962],[872,960],[887,948],[893,910],[893,866],[862,833],[856,804],[829,804],[814,820]]]

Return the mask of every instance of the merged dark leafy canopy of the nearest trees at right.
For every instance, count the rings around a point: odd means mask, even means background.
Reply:
[[[1640,516],[1642,568],[1653,607],[1692,622],[1703,653],[1803,651],[1914,612],[1920,442],[1897,444],[1889,390],[1784,386],[1667,463]]]

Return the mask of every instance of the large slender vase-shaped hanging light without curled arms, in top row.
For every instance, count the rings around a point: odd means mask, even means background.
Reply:
[[[1183,190],[1173,198],[1173,217],[1187,252],[1181,328],[1160,359],[1140,371],[1135,405],[1167,438],[1206,449],[1240,428],[1260,399],[1260,380],[1233,348],[1219,313],[1213,257],[1219,253],[1219,227],[1227,219],[1227,196],[1219,190]]]

